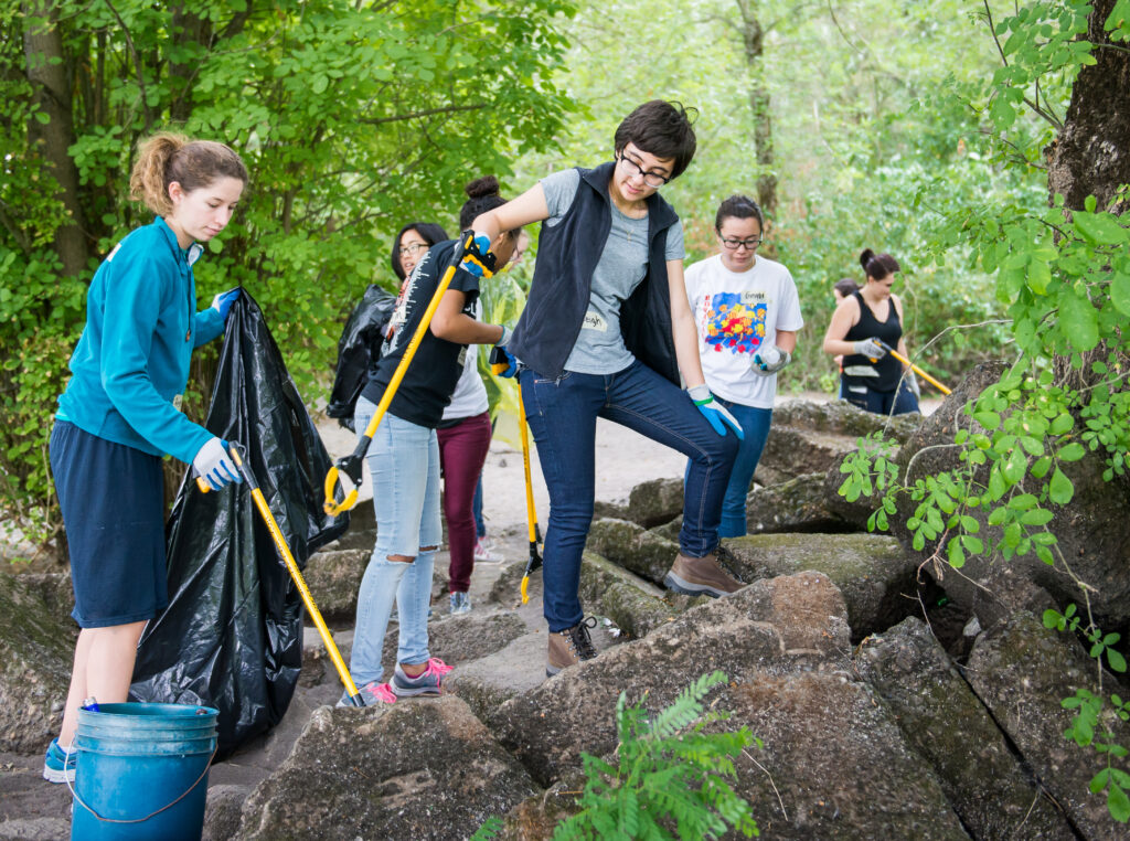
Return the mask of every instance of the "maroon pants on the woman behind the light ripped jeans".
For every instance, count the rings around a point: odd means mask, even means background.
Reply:
[[[443,515],[447,520],[447,545],[451,547],[449,589],[467,592],[475,569],[475,513],[471,504],[490,448],[490,415],[484,411],[454,426],[436,430],[436,435],[443,470]]]

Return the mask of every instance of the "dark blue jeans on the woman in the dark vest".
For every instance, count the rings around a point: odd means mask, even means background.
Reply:
[[[615,374],[566,371],[556,381],[527,370],[519,381],[549,489],[542,607],[550,632],[584,618],[577,588],[592,523],[598,417],[689,457],[679,547],[692,557],[718,547],[722,495],[738,439],[715,433],[685,391],[640,362]]]

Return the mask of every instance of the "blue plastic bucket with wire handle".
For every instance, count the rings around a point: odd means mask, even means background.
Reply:
[[[71,841],[200,841],[218,716],[183,704],[79,710]]]

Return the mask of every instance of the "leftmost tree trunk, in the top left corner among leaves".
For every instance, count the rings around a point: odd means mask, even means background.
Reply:
[[[29,146],[37,147],[46,172],[59,184],[56,198],[67,209],[69,220],[55,231],[54,251],[63,266],[63,275],[75,277],[86,269],[89,242],[82,232],[82,208],[79,203],[78,168],[67,149],[75,142],[71,114],[71,90],[67,84],[66,54],[59,32],[58,10],[51,0],[27,0],[24,3],[26,29],[24,55],[27,80],[35,92],[38,111],[49,121],[28,120]]]

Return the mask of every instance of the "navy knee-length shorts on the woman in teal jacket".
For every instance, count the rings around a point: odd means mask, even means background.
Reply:
[[[168,605],[160,458],[55,420],[51,471],[81,627],[151,619]]]

